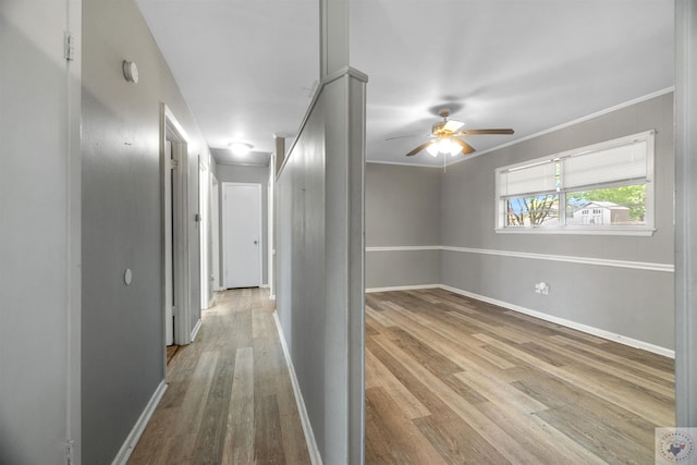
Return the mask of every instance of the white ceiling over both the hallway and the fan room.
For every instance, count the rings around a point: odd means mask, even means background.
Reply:
[[[468,137],[481,154],[673,86],[670,0],[350,1],[371,161],[442,164],[404,156],[441,107],[465,129],[515,130]],[[319,78],[319,0],[136,2],[219,162],[264,164],[274,135],[295,135]],[[232,158],[233,139],[253,154]]]

